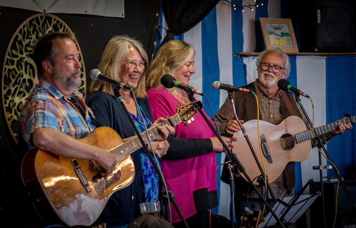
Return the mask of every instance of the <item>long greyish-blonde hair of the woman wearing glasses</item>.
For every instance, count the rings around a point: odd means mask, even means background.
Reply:
[[[146,72],[149,69],[148,57],[146,51],[142,47],[142,44],[136,39],[126,35],[112,37],[108,45],[106,45],[98,69],[101,73],[110,76],[112,79],[122,81],[121,71],[123,64],[126,64],[123,61],[126,59],[127,54],[129,54],[130,48],[135,48],[138,52],[140,52],[142,59],[147,62],[147,67],[143,70],[143,73],[138,80],[137,87],[133,90],[136,97],[143,98],[147,95],[145,80]],[[92,81],[90,85],[90,92],[94,93],[97,91],[103,91],[109,95],[114,95],[114,90],[111,85],[104,81]]]

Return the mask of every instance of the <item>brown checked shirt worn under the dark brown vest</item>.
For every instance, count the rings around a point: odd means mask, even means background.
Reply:
[[[276,124],[279,120],[281,120],[282,115],[279,108],[279,102],[281,99],[282,90],[279,91],[277,96],[273,98],[269,98],[265,91],[258,85],[258,80],[256,79],[256,83],[254,84],[256,89],[256,95],[258,99],[258,105],[260,106],[260,116],[261,120]],[[232,93],[234,100],[235,100],[235,93]],[[235,101],[236,102],[236,101]],[[310,129],[308,124],[307,118],[303,115],[302,110],[300,109],[299,105],[297,104],[298,110],[302,113],[303,122],[307,129]],[[224,104],[220,107],[219,111],[215,114],[216,122],[218,123],[218,128],[221,134],[225,134],[225,126],[229,120],[234,119],[234,114],[231,111],[230,99],[229,97],[226,98]],[[332,138],[329,133],[321,135],[323,142],[326,144]],[[242,164],[243,165],[243,164]],[[284,172],[272,183],[269,183],[272,192],[274,193],[276,198],[282,198],[284,194],[287,192],[287,186],[284,183]],[[238,187],[238,186],[237,186]],[[236,187],[236,188],[237,188]],[[261,191],[261,187],[257,186],[257,189]],[[243,195],[246,196],[246,192],[241,192]],[[294,190],[292,194],[294,193]],[[288,197],[290,195],[286,195]],[[248,197],[250,198],[258,198],[258,195],[255,191],[252,191]],[[268,192],[268,198],[272,198],[271,194]]]

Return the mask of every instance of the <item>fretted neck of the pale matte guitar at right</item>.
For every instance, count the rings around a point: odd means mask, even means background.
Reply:
[[[356,120],[356,116],[351,116],[351,117],[336,121],[334,123],[330,123],[330,124],[326,124],[321,127],[317,127],[317,128],[315,128],[315,132],[319,136],[321,136],[322,134],[336,130],[338,128],[338,126],[337,126],[338,123],[355,123],[355,120]],[[312,139],[313,138],[312,130],[305,131],[305,132],[302,132],[299,134],[295,134],[295,138],[297,139],[297,143],[301,143],[301,142],[304,142],[305,140]]]

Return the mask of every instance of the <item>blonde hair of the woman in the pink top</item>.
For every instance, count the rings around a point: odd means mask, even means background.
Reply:
[[[161,83],[161,77],[165,74],[174,76],[175,71],[184,65],[192,56],[195,49],[189,43],[180,39],[171,40],[158,49],[152,60],[151,68],[147,74],[146,84],[149,88],[165,88]],[[165,88],[168,92],[172,89]]]

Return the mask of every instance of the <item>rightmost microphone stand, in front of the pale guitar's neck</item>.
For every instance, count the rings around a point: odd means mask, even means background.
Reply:
[[[300,95],[300,94],[294,92],[294,95],[295,95],[295,101],[297,101],[297,103],[298,103],[300,109],[301,109],[301,110],[303,111],[303,113],[304,113],[304,116],[307,118],[309,125],[313,128],[313,131],[314,131],[314,134],[315,134],[315,138],[314,138],[315,144],[318,144],[318,147],[319,147],[319,148],[323,148],[323,151],[324,151],[324,153],[325,153],[325,156],[329,159],[329,161],[331,161],[331,158],[329,157],[328,151],[326,150],[326,148],[325,148],[325,146],[323,145],[323,143],[321,143],[321,138],[320,138],[320,136],[318,135],[318,132],[315,131],[315,128],[314,128],[314,126],[313,126],[313,123],[312,123],[312,121],[310,121],[310,118],[309,118],[307,112],[305,111],[305,109],[304,109],[304,107],[303,107],[303,105],[302,105],[302,101],[301,101],[300,98],[299,98],[299,95]],[[318,154],[319,154],[319,167],[322,167],[321,154],[320,154],[320,153],[318,153]],[[341,176],[340,176],[339,172],[337,172],[337,170],[335,169],[335,167],[334,167],[333,165],[332,165],[332,167],[333,167],[333,169],[334,169],[334,171],[335,171],[335,174],[336,174],[336,176],[337,176],[337,179],[339,179],[339,181],[340,181],[342,187],[343,187],[344,190],[345,190],[346,196],[349,198],[350,203],[352,204],[352,207],[354,207],[354,210],[356,211],[355,203],[354,203],[354,201],[352,200],[349,191],[346,189],[345,184],[344,184],[344,181],[341,179]],[[323,220],[324,220],[323,222],[324,222],[324,227],[326,227],[326,221],[325,221],[325,205],[324,205],[324,186],[323,186],[323,183],[324,183],[324,181],[323,181],[323,169],[319,169],[319,173],[320,173],[321,201],[322,201],[322,205],[323,205]]]

